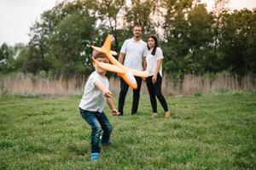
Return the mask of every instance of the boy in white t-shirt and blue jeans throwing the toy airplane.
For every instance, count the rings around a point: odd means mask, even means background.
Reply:
[[[97,52],[96,50],[93,51],[92,57],[99,62],[109,62],[105,54]],[[93,66],[95,67],[95,71],[90,74],[85,84],[79,110],[84,120],[90,124],[90,159],[96,161],[100,157],[100,142],[102,144],[110,144],[109,138],[113,130],[113,127],[108,121],[108,117],[103,112],[106,103],[108,103],[113,116],[118,115],[119,112],[113,105],[113,94],[108,89],[109,82],[105,77],[106,71],[99,67],[96,62],[93,62]],[[100,139],[101,135],[102,139]]]

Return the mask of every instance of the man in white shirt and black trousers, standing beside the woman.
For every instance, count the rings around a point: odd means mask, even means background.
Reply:
[[[134,26],[133,37],[125,40],[120,54],[119,62],[128,68],[143,71],[146,66],[147,43],[141,39],[143,33],[142,26]],[[142,86],[142,78],[135,77],[137,81],[137,89],[133,89],[133,100],[131,115],[137,113],[139,104],[140,91]],[[119,116],[124,114],[125,96],[127,94],[129,85],[121,78],[120,79],[120,92],[119,92]]]

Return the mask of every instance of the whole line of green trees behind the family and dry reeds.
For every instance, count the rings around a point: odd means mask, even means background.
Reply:
[[[256,73],[256,8],[230,11],[228,0],[215,0],[212,11],[198,0],[63,1],[41,14],[30,28],[30,41],[0,47],[0,71],[48,75],[87,75],[90,45],[101,46],[113,34],[119,52],[132,27],[143,26],[160,39],[164,71],[176,79],[229,71]]]

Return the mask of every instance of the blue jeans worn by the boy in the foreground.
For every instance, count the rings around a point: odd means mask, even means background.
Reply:
[[[84,111],[81,108],[79,108],[79,110],[83,119],[88,122],[91,127],[91,153],[100,153],[100,136],[102,135],[102,143],[108,143],[113,127],[103,111],[101,113],[98,111]]]

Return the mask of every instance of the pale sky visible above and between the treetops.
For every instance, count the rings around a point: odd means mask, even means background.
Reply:
[[[0,44],[29,41],[28,33],[40,14],[61,0],[0,0]],[[201,0],[211,10],[214,0]],[[256,0],[230,0],[231,9],[256,8]]]

